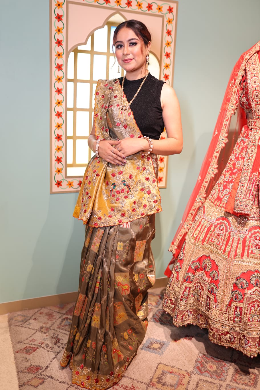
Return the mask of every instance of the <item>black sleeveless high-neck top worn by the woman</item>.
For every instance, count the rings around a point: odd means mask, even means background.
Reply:
[[[122,81],[123,78],[120,77],[119,82],[121,86]],[[143,78],[139,80],[127,80],[125,78],[124,93],[126,94],[127,101],[133,99],[142,81]],[[158,80],[149,73],[138,95],[130,106],[142,135],[146,135],[153,140],[159,140],[164,129],[163,110],[161,106],[161,90],[163,84],[163,81]]]

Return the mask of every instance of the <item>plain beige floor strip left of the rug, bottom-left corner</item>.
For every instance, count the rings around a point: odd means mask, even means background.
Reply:
[[[18,390],[18,379],[7,316],[7,314],[0,316],[0,388],[1,390]]]

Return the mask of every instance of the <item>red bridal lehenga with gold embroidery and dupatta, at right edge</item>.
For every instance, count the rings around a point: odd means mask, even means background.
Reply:
[[[212,342],[248,356],[260,352],[259,50],[260,42],[241,55],[231,74],[170,246],[163,301],[176,326],[207,328]],[[236,112],[237,135],[230,125]]]

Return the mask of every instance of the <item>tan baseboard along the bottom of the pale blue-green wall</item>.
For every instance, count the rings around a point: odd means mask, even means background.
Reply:
[[[158,278],[154,286],[150,289],[166,287],[168,278]],[[78,291],[57,295],[41,296],[39,298],[23,299],[20,301],[0,303],[0,315],[19,312],[21,310],[37,309],[46,306],[62,305],[64,303],[73,303],[76,301]]]

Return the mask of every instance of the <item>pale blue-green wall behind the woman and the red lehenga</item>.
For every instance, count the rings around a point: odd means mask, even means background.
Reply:
[[[76,194],[50,195],[49,4],[2,2],[0,11],[0,303],[76,291],[84,229]],[[180,0],[174,88],[184,150],[169,158],[153,242],[157,277],[196,182],[226,83],[260,39],[259,0]]]

